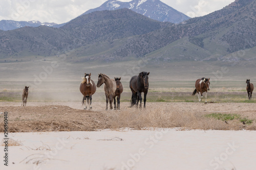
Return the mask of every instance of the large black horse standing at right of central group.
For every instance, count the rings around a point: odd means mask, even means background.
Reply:
[[[146,108],[146,94],[148,90],[148,75],[150,72],[140,72],[139,76],[133,76],[130,80],[130,88],[132,90],[132,99],[131,99],[131,106],[139,104],[140,101],[140,108],[142,102],[141,93],[144,93],[144,108]]]

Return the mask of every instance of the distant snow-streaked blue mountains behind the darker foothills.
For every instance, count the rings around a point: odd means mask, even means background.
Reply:
[[[149,18],[163,21],[163,22],[172,22],[180,23],[184,20],[189,19],[185,14],[169,7],[168,5],[162,3],[159,0],[133,0],[131,2],[120,2],[109,0],[102,4],[100,7],[88,10],[82,15],[89,14],[95,11],[103,10],[117,10],[122,8],[131,9],[139,14],[145,15]],[[40,21],[14,21],[14,20],[1,20],[0,21],[0,30],[8,31],[14,30],[22,27],[39,27],[39,26],[48,26],[59,28],[66,25],[66,23],[41,23]]]

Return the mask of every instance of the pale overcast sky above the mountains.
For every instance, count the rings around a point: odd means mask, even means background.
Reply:
[[[130,2],[129,0],[120,0]],[[145,1],[145,0],[144,0]],[[190,17],[203,16],[220,10],[234,0],[161,0],[168,6]],[[106,0],[1,0],[0,20],[38,20],[63,23],[89,9],[97,8]]]

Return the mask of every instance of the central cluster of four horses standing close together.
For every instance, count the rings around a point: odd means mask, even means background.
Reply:
[[[150,72],[140,72],[138,76],[133,76],[130,80],[130,88],[132,90],[131,106],[137,105],[140,102],[141,108],[142,96],[144,93],[144,108],[146,107],[146,94],[148,90],[148,75]],[[123,86],[120,82],[121,78],[110,79],[105,74],[99,74],[97,85],[91,80],[91,73],[84,73],[82,82],[80,84],[80,92],[83,95],[82,105],[86,101],[87,106],[84,109],[92,109],[92,95],[96,91],[96,86],[99,88],[104,83],[104,91],[106,97],[106,110],[108,110],[108,103],[110,102],[110,109],[113,109],[112,102],[114,100],[114,109],[120,109],[120,97],[123,92]],[[116,105],[117,96],[117,105]]]

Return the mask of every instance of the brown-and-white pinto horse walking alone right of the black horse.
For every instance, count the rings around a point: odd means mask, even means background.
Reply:
[[[207,90],[210,90],[210,78],[209,79],[206,79],[206,78],[198,79],[196,81],[195,87],[196,87],[196,89],[194,90],[192,95],[195,95],[197,93],[198,100],[199,100],[199,102],[201,102],[201,100],[203,98],[203,92],[206,92],[205,103],[207,103]],[[199,92],[201,95],[199,94]]]

